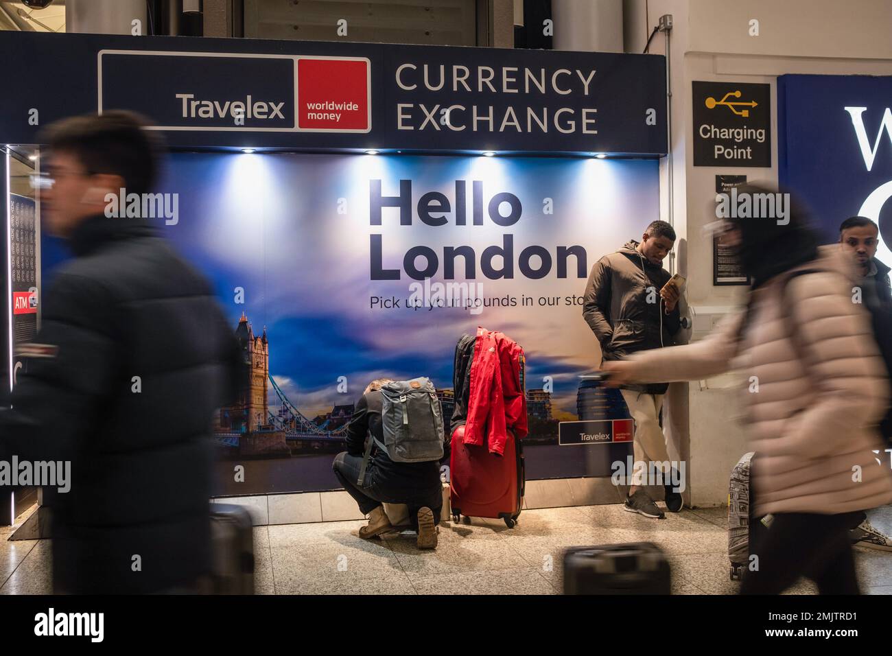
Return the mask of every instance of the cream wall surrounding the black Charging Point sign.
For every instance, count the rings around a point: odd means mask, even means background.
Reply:
[[[647,15],[645,12],[647,11]],[[785,73],[892,75],[892,1],[853,0],[625,0],[626,52],[640,53],[660,15],[673,14],[671,43],[672,147],[660,166],[662,218],[669,220],[669,176],[673,170],[673,225],[679,235],[677,270],[688,278],[687,300],[696,307],[739,303],[743,288],[713,286],[713,255],[702,233],[714,220],[715,176],[746,175],[777,183],[776,78]],[[759,21],[750,37],[749,21]],[[665,36],[650,52],[665,54]],[[772,86],[772,167],[695,167],[691,82],[733,80]],[[682,306],[682,310],[683,310]],[[739,394],[699,383],[673,385],[670,415],[678,452],[688,460],[690,502],[727,502],[728,476],[746,452],[745,431],[736,419]]]

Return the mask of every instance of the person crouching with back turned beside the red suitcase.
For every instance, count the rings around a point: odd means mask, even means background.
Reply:
[[[423,379],[420,379],[423,380]],[[409,385],[420,390],[423,387],[419,379],[409,381]],[[341,481],[344,489],[359,503],[359,510],[369,515],[368,526],[359,529],[359,536],[371,538],[381,536],[393,530],[390,519],[384,513],[383,503],[405,503],[409,506],[409,519],[412,527],[417,528],[419,549],[434,549],[437,545],[437,528],[442,511],[442,483],[440,480],[440,461],[449,458],[450,443],[442,431],[442,417],[439,423],[442,435],[441,444],[422,444],[421,448],[436,451],[434,459],[416,462],[398,462],[392,460],[385,448],[384,441],[384,393],[381,388],[393,383],[391,378],[377,378],[368,384],[347,427],[347,451],[338,453],[332,465],[335,476]],[[433,389],[433,387],[431,388]],[[440,416],[440,403],[433,398],[436,412]],[[402,405],[402,404],[401,404]],[[405,403],[409,408],[409,403]],[[403,411],[401,408],[399,411]],[[410,413],[398,426],[405,425],[409,429]],[[401,416],[402,417],[402,416]],[[425,428],[430,421],[425,421]],[[429,430],[429,428],[428,428]],[[368,436],[368,463],[366,439]],[[416,443],[413,441],[413,445]],[[421,443],[418,443],[421,444]],[[440,449],[442,448],[442,451]],[[440,457],[442,453],[442,459]],[[416,453],[418,455],[418,453]]]

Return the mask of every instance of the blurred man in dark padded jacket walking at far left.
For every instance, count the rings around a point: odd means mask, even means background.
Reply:
[[[74,259],[45,294],[33,356],[0,412],[0,457],[70,461],[53,504],[56,592],[198,591],[210,571],[210,431],[235,393],[235,336],[211,287],[145,218],[158,146],[128,112],[51,126],[45,222]],[[163,220],[163,219],[161,219]]]

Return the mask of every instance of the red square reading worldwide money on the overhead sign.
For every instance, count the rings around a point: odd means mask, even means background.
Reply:
[[[372,129],[369,61],[298,57],[297,126],[310,132]]]

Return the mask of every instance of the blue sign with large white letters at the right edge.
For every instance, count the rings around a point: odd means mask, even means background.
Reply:
[[[778,78],[780,184],[802,197],[826,241],[861,214],[880,224],[892,261],[892,77]]]

